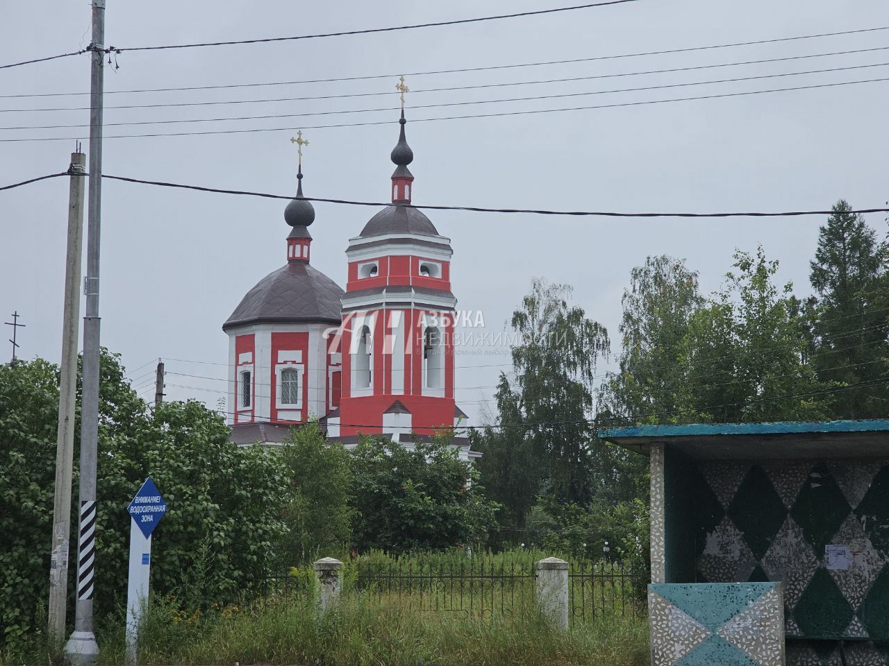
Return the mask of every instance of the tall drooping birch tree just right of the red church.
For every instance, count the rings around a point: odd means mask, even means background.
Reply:
[[[537,496],[585,504],[610,474],[593,425],[593,384],[608,334],[571,296],[566,285],[532,282],[510,321],[517,345],[513,378],[501,374],[497,391],[501,427],[473,438],[484,454],[485,488],[503,503],[505,536],[516,543]]]

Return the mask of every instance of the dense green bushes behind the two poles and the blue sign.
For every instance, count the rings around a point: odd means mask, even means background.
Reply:
[[[49,594],[58,381],[58,369],[46,361],[0,367],[0,646],[7,649],[45,622],[37,608]],[[181,593],[199,605],[265,575],[283,529],[277,511],[286,484],[275,458],[229,443],[220,416],[200,403],[149,410],[125,381],[117,356],[107,352],[100,359],[97,475],[97,617],[125,599],[126,506],[149,475],[169,507],[154,533],[154,591]],[[74,481],[72,535],[76,471]],[[73,591],[68,599],[73,607]]]

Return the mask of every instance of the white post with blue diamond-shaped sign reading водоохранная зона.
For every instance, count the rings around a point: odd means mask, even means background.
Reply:
[[[148,603],[148,573],[151,569],[151,533],[164,518],[166,503],[151,477],[127,507],[130,523],[130,576],[126,590],[126,658],[136,663],[136,646],[142,609]]]

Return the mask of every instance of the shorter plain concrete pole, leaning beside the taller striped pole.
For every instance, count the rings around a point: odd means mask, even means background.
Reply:
[[[68,603],[68,536],[71,525],[71,467],[74,463],[74,407],[77,391],[77,320],[80,314],[80,261],[84,244],[86,155],[77,147],[68,167],[68,250],[65,257],[65,309],[61,333],[59,435],[56,441],[55,503],[52,505],[49,636],[53,653],[65,639]]]

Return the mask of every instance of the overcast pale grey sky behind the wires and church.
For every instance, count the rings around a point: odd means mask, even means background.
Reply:
[[[139,46],[300,35],[565,6],[556,0],[449,3],[124,3],[108,0],[108,44]],[[83,48],[90,3],[2,3],[0,64]],[[484,67],[541,60],[661,51],[710,44],[889,26],[885,0],[640,0],[601,9],[367,36],[124,52],[106,73],[106,90],[265,83],[296,79]],[[889,46],[889,30],[783,44],[573,65],[520,67],[408,77],[414,89],[508,83],[691,67],[742,60]],[[889,63],[889,50],[744,67],[720,67],[599,81],[476,91],[416,92],[408,117],[576,107],[644,99],[833,83],[889,76],[889,67],[661,91],[514,101],[454,108],[412,108],[477,99],[603,91],[712,81],[829,67]],[[396,77],[221,91],[108,94],[108,107],[186,101],[268,99],[389,91],[357,99],[149,109],[112,109],[106,123],[273,115],[396,107]],[[87,56],[0,70],[0,94],[87,91]],[[414,203],[571,210],[795,210],[829,208],[845,197],[861,208],[889,198],[886,113],[889,82],[557,114],[411,123]],[[0,99],[0,109],[84,107],[85,96]],[[456,111],[456,113],[454,113]],[[206,131],[396,120],[395,111],[308,118],[108,127],[106,135]],[[80,124],[85,110],[0,113],[0,126]],[[397,125],[307,130],[304,181],[309,196],[386,201],[388,154]],[[105,172],[223,188],[290,194],[292,131],[108,139]],[[0,131],[0,139],[86,136],[77,129]],[[0,185],[64,170],[74,141],[0,143]],[[28,328],[20,355],[58,361],[68,183],[64,178],[0,193],[0,314],[18,310]],[[247,289],[284,263],[284,202],[106,181],[103,188],[102,344],[137,369],[163,356],[167,370],[225,377],[227,337],[220,326]],[[312,264],[341,285],[344,250],[374,210],[316,204]],[[781,280],[809,291],[808,262],[821,218],[544,218],[456,211],[430,213],[453,240],[453,290],[459,307],[502,329],[533,276],[573,285],[576,301],[601,321],[619,352],[621,292],[629,271],[653,254],[686,258],[701,286],[717,289],[735,248],[765,245],[781,260]],[[883,216],[869,222],[885,233]],[[7,329],[7,327],[4,327]],[[4,330],[5,333],[8,332]],[[10,345],[0,345],[8,360]],[[482,350],[484,351],[484,350]],[[493,387],[507,362],[463,354],[457,385]],[[220,365],[213,365],[220,364]],[[476,369],[468,366],[485,366]],[[139,379],[151,367],[135,372]],[[142,385],[147,380],[140,380]],[[169,399],[215,405],[219,381],[168,376]],[[143,392],[147,395],[147,392]],[[488,388],[464,388],[458,402],[477,419]],[[477,419],[478,420],[478,419]]]

